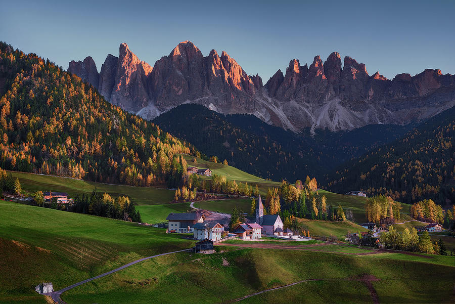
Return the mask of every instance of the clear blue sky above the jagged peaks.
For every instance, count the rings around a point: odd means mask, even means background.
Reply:
[[[92,56],[98,70],[126,42],[154,65],[180,41],[228,52],[264,83],[291,59],[337,51],[393,78],[455,73],[455,1],[9,1],[0,40],[63,68]]]

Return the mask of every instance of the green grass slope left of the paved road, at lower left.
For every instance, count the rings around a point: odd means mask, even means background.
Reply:
[[[34,286],[56,290],[131,260],[191,247],[163,229],[0,201],[0,302],[43,302]]]

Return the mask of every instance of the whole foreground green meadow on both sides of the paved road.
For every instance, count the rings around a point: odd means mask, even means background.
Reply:
[[[180,235],[166,234],[164,229],[13,202],[0,201],[0,212],[2,303],[44,303],[45,298],[33,290],[40,282],[52,282],[58,290],[140,257],[194,244]],[[383,302],[453,301],[455,267],[450,266],[454,260],[450,256],[346,255],[341,251],[361,249],[338,245],[319,248],[339,248],[335,254],[216,248],[220,251],[211,255],[178,253],[153,258],[67,291],[62,299],[67,303],[230,302],[256,291],[316,278],[330,279],[332,286],[341,289],[304,293],[307,286],[314,286],[305,284],[245,302],[295,302],[300,298],[305,302],[370,302],[368,290],[351,278],[371,274],[380,279],[373,286]],[[354,295],[359,298],[348,297]]]

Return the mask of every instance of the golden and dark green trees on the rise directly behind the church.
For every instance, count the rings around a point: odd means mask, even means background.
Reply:
[[[306,177],[304,183],[297,180],[295,186],[283,181],[280,188],[268,189],[264,202],[268,214],[280,214],[284,221],[292,223],[293,217],[312,220],[345,221],[341,205],[332,206],[325,195],[317,191],[316,179]]]

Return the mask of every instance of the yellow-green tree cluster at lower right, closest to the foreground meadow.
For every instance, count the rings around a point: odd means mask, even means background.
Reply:
[[[393,226],[390,226],[389,232],[383,232],[380,240],[389,249],[447,255],[442,240],[433,243],[427,231],[418,235],[416,228],[411,231],[406,228],[402,233],[399,233]]]

